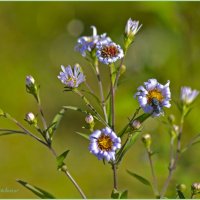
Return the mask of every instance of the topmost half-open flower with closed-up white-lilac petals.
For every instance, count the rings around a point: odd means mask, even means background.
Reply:
[[[136,35],[136,33],[140,30],[142,24],[139,25],[139,21],[133,21],[131,18],[128,19],[125,27],[125,34],[127,37],[130,35]]]

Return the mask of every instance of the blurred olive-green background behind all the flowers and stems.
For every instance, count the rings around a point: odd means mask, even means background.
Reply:
[[[23,122],[25,113],[37,113],[34,99],[25,91],[25,77],[31,74],[41,85],[45,116],[50,122],[62,105],[81,105],[79,98],[63,93],[57,79],[60,65],[79,63],[88,83],[95,90],[96,78],[88,63],[74,51],[77,38],[91,35],[91,25],[98,33],[107,32],[119,44],[128,18],[143,27],[130,48],[125,64],[127,73],[117,91],[117,130],[131,116],[138,104],[133,94],[149,78],[161,83],[171,81],[173,100],[178,100],[181,86],[200,90],[200,3],[199,2],[0,2],[0,107]],[[107,89],[106,66],[101,66]],[[174,103],[167,113],[179,112]],[[183,143],[200,131],[200,100],[188,116]],[[152,134],[153,157],[159,188],[167,176],[169,134],[162,119],[150,119],[144,132]],[[70,149],[68,168],[88,198],[109,198],[112,171],[88,152],[88,141],[75,131],[84,126],[84,116],[68,111],[59,127],[54,147],[58,153]],[[15,128],[5,119],[0,128]],[[27,126],[28,127],[28,126]],[[175,185],[200,181],[199,145],[184,153],[167,192],[175,197]],[[119,188],[129,190],[129,198],[154,198],[151,188],[126,173],[129,169],[151,179],[143,144],[140,140],[127,154],[118,170]],[[65,176],[56,171],[55,159],[45,147],[27,136],[0,138],[0,188],[18,190],[0,192],[1,198],[36,198],[16,183],[22,179],[54,194],[57,198],[80,198]]]

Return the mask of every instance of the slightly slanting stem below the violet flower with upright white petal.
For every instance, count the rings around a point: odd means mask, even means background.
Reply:
[[[103,114],[106,123],[108,123],[108,116],[106,112],[106,105],[105,105],[105,98],[104,98],[104,93],[103,93],[103,86],[102,86],[102,81],[101,81],[101,76],[99,73],[99,66],[98,66],[98,61],[94,62],[94,67],[95,67],[95,72],[98,80],[98,85],[99,85],[99,91],[100,91],[100,96],[101,96],[101,104],[102,104],[102,109],[103,109]]]

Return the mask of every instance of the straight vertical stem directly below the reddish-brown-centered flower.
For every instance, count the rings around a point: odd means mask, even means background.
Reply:
[[[110,91],[111,91],[111,117],[112,117],[112,122],[111,122],[111,127],[112,130],[115,130],[115,90],[114,90],[114,81],[113,81],[113,67],[110,66]]]

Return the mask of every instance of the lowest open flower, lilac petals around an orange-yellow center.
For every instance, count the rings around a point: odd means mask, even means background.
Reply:
[[[99,160],[115,160],[115,151],[121,148],[121,139],[109,128],[96,130],[90,135],[89,151]]]

